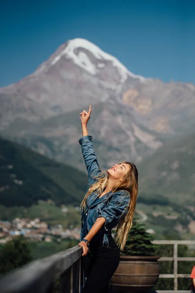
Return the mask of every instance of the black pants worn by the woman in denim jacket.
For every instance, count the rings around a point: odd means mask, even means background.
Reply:
[[[89,252],[83,256],[83,265],[87,276],[82,293],[108,293],[109,280],[117,270],[120,252],[112,235],[109,235],[109,247],[102,246],[102,238],[90,241]]]

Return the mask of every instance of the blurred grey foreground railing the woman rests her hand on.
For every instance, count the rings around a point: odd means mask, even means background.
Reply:
[[[32,261],[0,279],[1,293],[50,293],[54,280],[60,276],[61,292],[80,293],[84,284],[81,263],[82,248]]]

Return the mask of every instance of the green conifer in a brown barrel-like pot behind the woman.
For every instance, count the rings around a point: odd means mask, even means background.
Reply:
[[[154,236],[145,230],[144,224],[134,220],[120,263],[110,280],[110,287],[118,292],[147,292],[157,282],[159,256],[154,255]]]

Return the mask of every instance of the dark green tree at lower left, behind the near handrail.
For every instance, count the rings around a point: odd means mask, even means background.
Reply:
[[[0,250],[0,274],[19,268],[31,260],[28,242],[22,235],[14,237]]]

